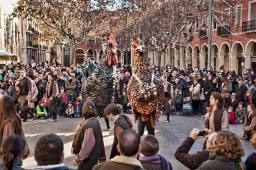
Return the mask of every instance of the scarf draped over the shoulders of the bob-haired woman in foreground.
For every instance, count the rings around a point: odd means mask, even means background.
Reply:
[[[90,118],[89,118],[90,119]],[[78,126],[77,129],[75,130],[75,135],[74,135],[74,139],[73,139],[73,143],[72,143],[72,148],[71,148],[71,153],[74,154],[73,150],[74,150],[74,146],[77,144],[75,141],[77,141],[77,137],[79,135],[79,131],[81,129],[81,127],[83,127],[83,125],[85,125],[85,123],[87,122],[88,119],[82,121]],[[99,126],[100,123],[98,122]],[[106,161],[106,152],[105,152],[105,145],[104,145],[104,140],[103,140],[103,135],[102,135],[102,131],[101,131],[101,127],[100,127],[100,137],[101,137],[101,152],[100,152],[100,158],[99,158],[99,163],[103,163]]]

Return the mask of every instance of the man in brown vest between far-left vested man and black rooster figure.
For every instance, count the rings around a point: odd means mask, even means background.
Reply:
[[[56,121],[56,102],[58,101],[59,89],[58,83],[53,80],[53,74],[48,74],[48,82],[46,85],[46,93],[45,93],[45,103],[48,102],[48,110],[49,113],[53,115],[53,118],[50,121]]]

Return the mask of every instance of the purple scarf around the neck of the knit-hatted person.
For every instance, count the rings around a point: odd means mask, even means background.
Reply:
[[[172,166],[166,159],[161,155],[153,155],[153,156],[140,156],[140,163],[148,163],[148,164],[160,164],[162,169],[164,170],[172,170]]]

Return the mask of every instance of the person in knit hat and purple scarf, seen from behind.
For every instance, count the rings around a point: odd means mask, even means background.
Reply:
[[[157,155],[159,151],[159,142],[153,135],[147,135],[142,138],[140,150],[140,163],[144,169],[171,170],[173,169],[163,156]]]

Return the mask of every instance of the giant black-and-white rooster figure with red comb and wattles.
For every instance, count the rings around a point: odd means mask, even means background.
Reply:
[[[95,103],[97,114],[101,114],[105,118],[109,130],[111,128],[108,118],[104,114],[104,109],[114,99],[114,87],[117,83],[115,66],[117,64],[116,36],[110,35],[108,43],[103,45],[103,56],[100,64],[82,85],[83,100],[92,100]]]

